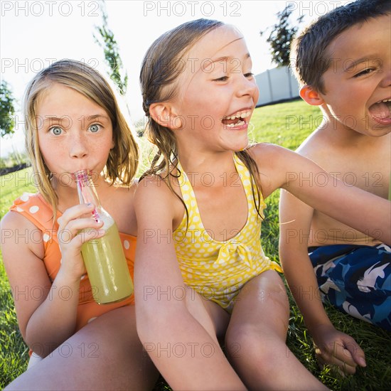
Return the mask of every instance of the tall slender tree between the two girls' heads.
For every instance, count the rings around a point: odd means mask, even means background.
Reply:
[[[105,1],[102,0],[100,4],[100,11],[102,12],[102,26],[95,26],[99,36],[95,36],[95,42],[103,48],[105,52],[105,60],[109,65],[110,73],[109,76],[112,81],[118,86],[119,93],[125,95],[127,92],[128,75],[123,70],[123,64],[121,56],[119,55],[119,49],[117,41],[115,41],[114,33],[109,29],[107,24],[107,12]],[[124,72],[124,77],[121,73]]]

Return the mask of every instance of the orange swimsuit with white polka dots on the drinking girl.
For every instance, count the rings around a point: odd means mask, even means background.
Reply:
[[[13,210],[16,213],[21,213],[21,215],[28,218],[28,220],[30,220],[31,223],[36,225],[37,229],[41,231],[41,233],[30,232],[29,238],[30,240],[43,240],[43,246],[45,250],[43,262],[48,272],[50,282],[53,282],[55,277],[57,276],[61,264],[61,252],[60,246],[58,245],[57,237],[57,219],[60,217],[61,213],[57,213],[57,218],[55,219],[55,223],[53,225],[53,209],[39,193],[23,193],[21,197],[17,198],[14,201],[14,205],[11,206],[10,210]],[[39,235],[36,235],[37,233]],[[119,236],[121,237],[122,247],[124,249],[125,257],[127,259],[129,272],[133,279],[136,237],[123,233],[119,233]],[[64,296],[64,299],[66,299],[68,298],[70,292],[66,291],[66,289],[63,289],[62,291],[54,290],[52,294],[60,294]],[[92,297],[90,280],[88,279],[88,275],[86,274],[85,277],[82,277],[80,281],[76,330],[80,330],[80,328],[97,318],[97,316],[105,314],[112,309],[116,309],[129,304],[134,304],[133,295],[125,299],[124,301],[120,301],[119,303],[105,304],[104,306],[97,304]]]

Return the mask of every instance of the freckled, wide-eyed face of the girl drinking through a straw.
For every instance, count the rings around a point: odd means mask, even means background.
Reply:
[[[60,83],[38,98],[38,144],[55,178],[87,168],[101,173],[114,146],[112,122],[99,105]],[[67,176],[69,183],[70,176]]]

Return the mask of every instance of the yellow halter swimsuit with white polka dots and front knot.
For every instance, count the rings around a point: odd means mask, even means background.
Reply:
[[[229,312],[246,282],[265,270],[282,272],[279,264],[272,262],[262,250],[262,219],[255,208],[250,171],[236,155],[234,161],[247,196],[245,227],[230,240],[214,240],[213,232],[205,230],[203,226],[191,182],[178,162],[181,171],[178,182],[188,209],[188,220],[185,213],[181,224],[173,232],[183,282],[198,291],[203,298],[215,301]],[[264,208],[266,204],[261,195],[259,212],[263,213]]]

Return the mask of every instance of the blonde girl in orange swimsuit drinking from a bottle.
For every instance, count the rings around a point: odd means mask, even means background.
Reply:
[[[71,175],[92,171],[133,274],[139,151],[132,132],[107,81],[74,60],[38,73],[24,109],[38,192],[21,195],[1,221],[2,252],[18,326],[38,363],[9,389],[150,389],[156,372],[137,338],[134,297],[106,306],[92,298],[80,247],[104,231],[91,205],[79,205]],[[17,232],[30,239],[17,241]],[[17,293],[21,286],[26,294]]]

